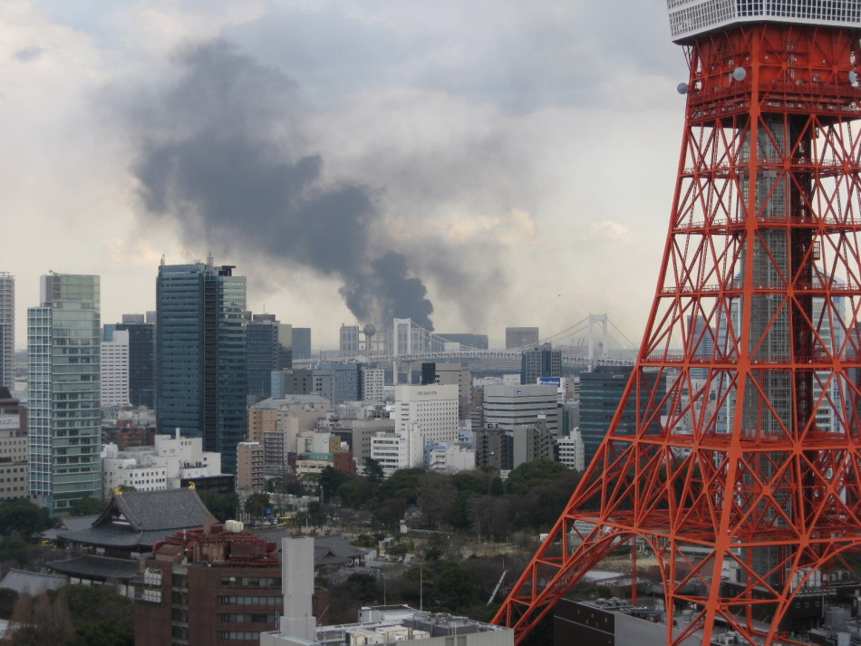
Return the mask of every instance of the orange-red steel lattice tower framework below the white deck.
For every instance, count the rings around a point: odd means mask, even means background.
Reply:
[[[692,609],[667,622],[668,644],[725,629],[806,643],[791,604],[861,549],[859,34],[763,22],[685,43],[643,344],[604,443],[494,619],[518,643],[614,550],[632,546],[635,576],[636,542],[666,608]],[[619,430],[626,407],[634,434]]]

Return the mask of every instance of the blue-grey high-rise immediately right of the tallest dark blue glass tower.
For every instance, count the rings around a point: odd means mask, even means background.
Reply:
[[[292,365],[291,325],[276,320],[275,314],[253,314],[247,323],[247,394],[272,397],[272,371]]]

